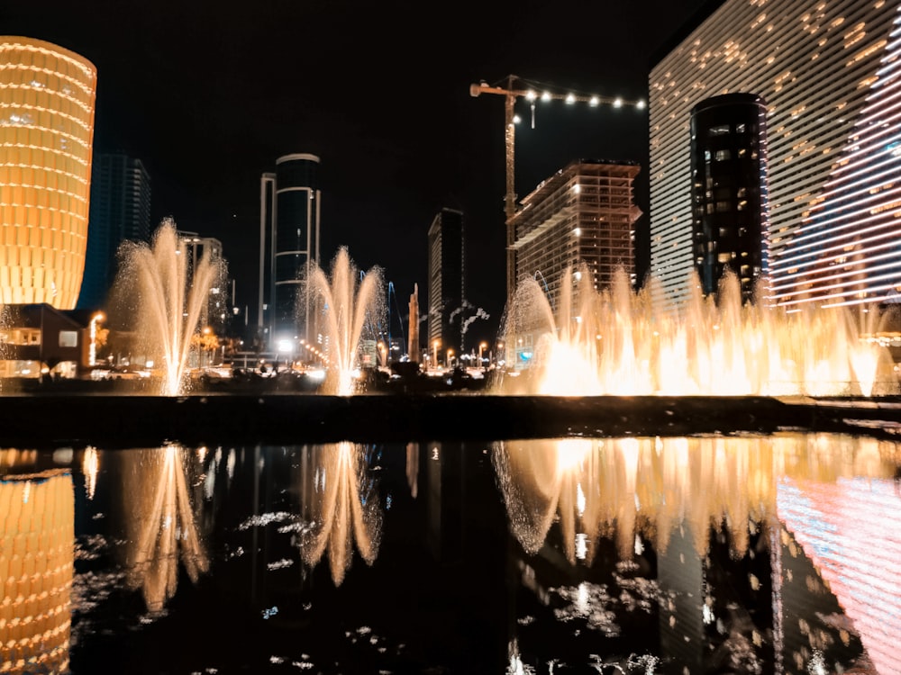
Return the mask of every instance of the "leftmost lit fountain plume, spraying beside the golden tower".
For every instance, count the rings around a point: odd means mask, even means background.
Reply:
[[[222,272],[222,262],[205,255],[191,269],[187,246],[179,240],[171,219],[163,220],[152,246],[128,241],[121,253],[123,272],[116,291],[127,294],[147,353],[160,359],[162,393],[175,395],[184,386],[191,338]]]

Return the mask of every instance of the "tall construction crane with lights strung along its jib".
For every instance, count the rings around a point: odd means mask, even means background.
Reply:
[[[523,86],[517,87],[521,83]],[[532,88],[531,85],[537,85]],[[541,93],[539,93],[541,90]],[[598,105],[612,105],[614,108],[620,108],[624,105],[630,105],[635,108],[644,108],[644,101],[624,101],[622,98],[613,96],[600,96],[589,94],[561,94],[554,92],[548,85],[540,83],[531,83],[522,77],[510,75],[506,77],[506,86],[488,85],[480,82],[478,85],[469,85],[469,95],[479,96],[481,94],[498,94],[504,96],[504,143],[505,143],[505,168],[506,168],[506,193],[504,197],[504,212],[506,216],[506,284],[507,284],[507,304],[513,298],[516,288],[516,257],[514,255],[514,243],[516,232],[513,225],[513,217],[516,215],[516,190],[514,187],[514,141],[515,141],[515,124],[516,115],[514,113],[514,103],[517,98],[524,98],[532,103],[532,127],[535,125],[535,102],[542,101],[565,101],[566,103],[588,103],[589,106],[596,107]]]

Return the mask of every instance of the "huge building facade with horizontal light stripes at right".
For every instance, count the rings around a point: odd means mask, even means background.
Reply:
[[[901,291],[897,0],[726,0],[651,68],[651,275],[687,298],[691,111],[719,94],[767,105],[769,299],[797,309]]]

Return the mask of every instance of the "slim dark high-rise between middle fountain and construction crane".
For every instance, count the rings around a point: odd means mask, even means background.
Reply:
[[[462,321],[465,297],[463,213],[441,209],[429,228],[429,354],[435,367],[457,357],[463,349]]]

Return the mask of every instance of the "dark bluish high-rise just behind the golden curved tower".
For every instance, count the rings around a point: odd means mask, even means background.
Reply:
[[[126,240],[150,241],[150,175],[140,159],[97,154],[79,309],[104,305],[115,280],[119,246]]]

